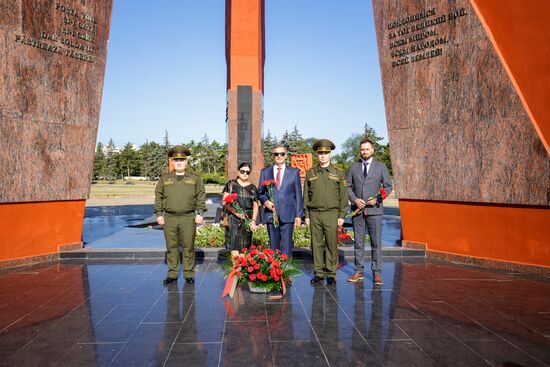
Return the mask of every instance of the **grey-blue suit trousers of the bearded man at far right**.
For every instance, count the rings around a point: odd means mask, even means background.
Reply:
[[[364,214],[353,217],[353,234],[355,235],[355,271],[364,271],[365,234],[370,237],[373,273],[382,272],[382,216]]]

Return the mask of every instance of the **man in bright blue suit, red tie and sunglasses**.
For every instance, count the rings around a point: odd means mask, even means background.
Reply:
[[[258,197],[265,208],[264,221],[267,223],[269,242],[273,250],[292,256],[292,234],[294,226],[302,224],[304,209],[302,206],[302,184],[300,171],[285,164],[287,149],[278,145],[273,148],[274,165],[262,169],[258,185]],[[265,181],[273,180],[273,197]],[[277,213],[279,225],[273,224],[273,208]]]

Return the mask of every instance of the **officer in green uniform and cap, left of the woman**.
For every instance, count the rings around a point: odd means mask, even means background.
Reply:
[[[175,145],[168,151],[174,171],[163,175],[155,188],[157,223],[164,226],[168,275],[164,284],[178,279],[179,248],[182,248],[183,276],[187,283],[195,282],[195,231],[202,224],[206,211],[206,192],[200,176],[186,172],[191,151]]]

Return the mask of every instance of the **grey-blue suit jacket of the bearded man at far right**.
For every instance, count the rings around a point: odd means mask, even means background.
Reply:
[[[392,186],[390,173],[386,165],[376,159],[372,159],[369,167],[369,174],[365,179],[363,177],[363,162],[354,163],[348,172],[347,177],[348,196],[351,201],[351,210],[354,211],[357,207],[354,204],[355,199],[363,199],[367,201],[370,197],[375,197],[380,191],[380,187],[386,190],[389,195]],[[367,205],[368,215],[382,215],[384,213],[384,204],[382,199],[379,199],[374,206]]]

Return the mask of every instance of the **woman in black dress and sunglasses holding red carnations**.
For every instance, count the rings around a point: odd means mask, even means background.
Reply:
[[[243,213],[239,213],[233,204],[225,203],[223,208],[228,217],[228,226],[225,228],[225,247],[229,250],[240,251],[252,244],[252,231],[256,229],[258,218],[258,189],[250,182],[251,167],[249,163],[241,163],[237,178],[229,180],[223,188],[223,201],[230,194],[237,194],[237,202]],[[245,220],[250,219],[250,230],[245,225]]]

